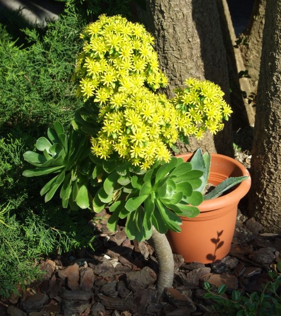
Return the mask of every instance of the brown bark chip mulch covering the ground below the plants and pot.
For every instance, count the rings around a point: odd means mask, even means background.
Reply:
[[[95,252],[42,260],[43,279],[21,296],[1,298],[0,316],[210,316],[205,280],[214,287],[226,284],[229,291],[260,291],[270,265],[281,260],[281,236],[266,234],[260,223],[239,212],[229,255],[206,265],[174,255],[173,288],[159,297],[150,245],[129,241],[122,226],[112,234],[108,214],[98,216]]]

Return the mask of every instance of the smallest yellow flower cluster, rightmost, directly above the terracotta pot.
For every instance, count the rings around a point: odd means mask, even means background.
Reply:
[[[201,139],[207,130],[212,134],[222,130],[223,119],[228,120],[232,113],[223,99],[225,93],[208,80],[190,78],[185,83],[186,88],[176,89],[176,96],[171,100],[184,115],[184,123],[179,124],[183,133]]]

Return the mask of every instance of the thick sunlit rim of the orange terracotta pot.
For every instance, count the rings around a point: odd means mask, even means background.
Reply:
[[[188,159],[192,156],[192,154],[193,153],[189,153],[189,152],[183,153],[183,154],[177,155],[176,158],[186,158],[187,157],[187,159]],[[212,161],[212,158],[215,158],[215,157],[220,158],[220,159],[224,159],[225,161],[232,163],[233,165],[235,165],[236,167],[238,167],[241,170],[242,176],[248,176],[248,178],[245,179],[244,181],[242,181],[233,191],[231,191],[223,196],[220,196],[218,198],[203,201],[200,205],[197,206],[199,208],[200,212],[213,211],[213,210],[225,207],[227,205],[234,204],[233,201],[237,201],[237,204],[238,204],[238,202],[247,194],[247,192],[249,191],[250,186],[251,186],[250,173],[247,170],[247,168],[244,167],[244,165],[242,165],[239,161],[237,161],[231,157],[228,157],[228,156],[225,156],[222,154],[211,153],[211,161]]]

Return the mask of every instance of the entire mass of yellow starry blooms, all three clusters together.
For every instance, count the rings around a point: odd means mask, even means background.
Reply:
[[[170,160],[167,146],[179,136],[202,138],[206,130],[215,134],[223,128],[223,118],[232,111],[214,83],[188,79],[187,87],[177,89],[170,100],[155,93],[168,80],[159,69],[153,37],[141,24],[102,15],[81,37],[75,76],[78,94],[98,107],[94,155],[108,159],[117,153],[148,169],[156,160]]]

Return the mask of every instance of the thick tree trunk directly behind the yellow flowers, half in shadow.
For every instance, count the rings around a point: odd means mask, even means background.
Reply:
[[[169,96],[188,77],[208,79],[222,87],[229,103],[225,47],[216,0],[147,0],[145,21],[155,37],[160,67],[169,78]],[[202,141],[190,138],[185,151],[198,147],[233,154],[231,122],[215,137],[207,133]]]

